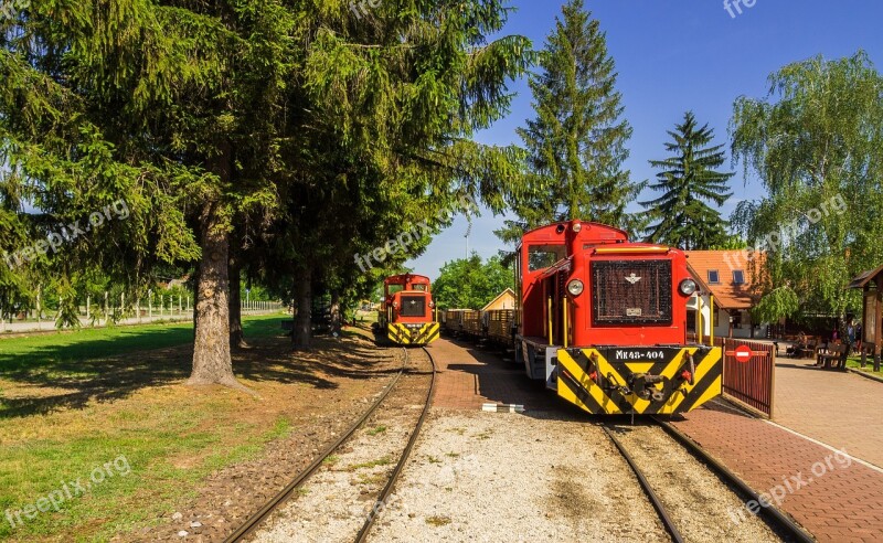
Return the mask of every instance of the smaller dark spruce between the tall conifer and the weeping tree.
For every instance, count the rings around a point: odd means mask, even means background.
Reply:
[[[672,140],[666,143],[666,150],[672,156],[650,161],[662,170],[650,189],[662,191],[662,195],[641,202],[657,219],[648,241],[685,249],[721,245],[727,239],[726,221],[709,202],[720,207],[733,195],[728,181],[734,173],[716,171],[724,163],[724,146],[710,145],[714,130],[709,125],[700,128],[692,111],[687,111],[683,123],[668,134]]]

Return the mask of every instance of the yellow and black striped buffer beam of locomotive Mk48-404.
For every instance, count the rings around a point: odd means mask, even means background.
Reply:
[[[560,349],[558,396],[595,415],[687,413],[722,393],[711,347]]]

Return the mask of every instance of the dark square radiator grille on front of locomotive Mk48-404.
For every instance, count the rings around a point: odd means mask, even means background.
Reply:
[[[671,260],[592,263],[593,321],[671,324]]]

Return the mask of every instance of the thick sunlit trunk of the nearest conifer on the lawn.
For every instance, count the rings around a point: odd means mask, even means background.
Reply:
[[[202,259],[196,279],[196,338],[193,344],[193,372],[188,384],[242,387],[233,375],[230,356],[230,241],[215,205],[205,203],[200,217]]]

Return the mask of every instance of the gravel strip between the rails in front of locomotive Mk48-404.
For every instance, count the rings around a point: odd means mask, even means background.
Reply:
[[[737,494],[657,426],[614,430],[687,541],[781,541]]]

